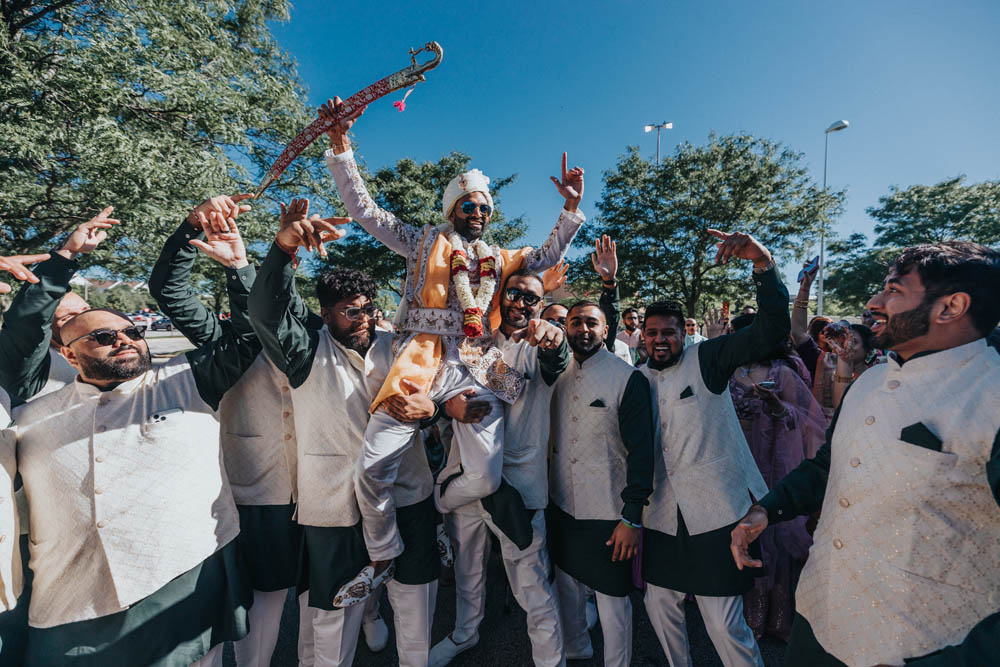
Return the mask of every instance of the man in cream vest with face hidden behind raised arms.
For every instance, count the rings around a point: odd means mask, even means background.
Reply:
[[[202,304],[191,285],[198,250],[230,251],[230,221],[250,210],[250,197],[218,195],[195,207],[167,239],[150,275],[150,294],[195,347],[211,344],[231,326]],[[300,299],[290,313],[309,328],[323,326]],[[237,540],[253,585],[250,633],[234,645],[239,667],[270,664],[285,597],[298,581],[302,535],[292,518],[296,439],[291,397],[281,390],[287,384],[261,352],[219,404],[223,461],[240,517]],[[384,623],[380,629],[388,634]]]

